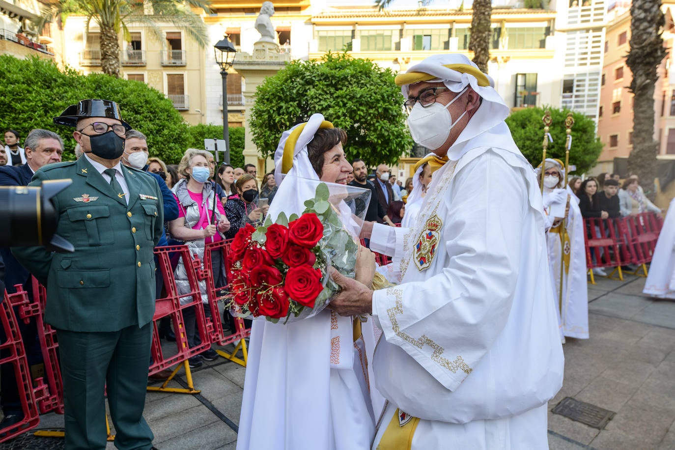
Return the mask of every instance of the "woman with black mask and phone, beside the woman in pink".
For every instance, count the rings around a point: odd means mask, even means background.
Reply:
[[[235,184],[236,194],[229,196],[225,203],[225,215],[232,224],[225,231],[225,239],[232,239],[241,227],[250,223],[259,227],[265,219],[269,205],[258,204],[258,182],[253,175],[244,173]]]

